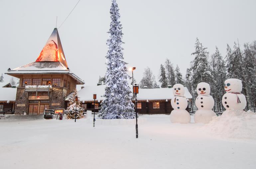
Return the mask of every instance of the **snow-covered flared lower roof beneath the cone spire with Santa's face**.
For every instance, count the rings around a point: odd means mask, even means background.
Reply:
[[[61,62],[33,62],[8,70],[5,74],[68,74],[79,81],[80,84],[84,84],[81,78],[67,69]]]

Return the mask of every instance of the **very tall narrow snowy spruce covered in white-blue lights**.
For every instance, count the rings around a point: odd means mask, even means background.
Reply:
[[[123,61],[123,33],[116,0],[112,0],[110,18],[106,56],[106,87],[98,117],[102,119],[135,118],[134,104],[131,101],[132,92],[127,81],[129,78],[125,66],[127,63]]]

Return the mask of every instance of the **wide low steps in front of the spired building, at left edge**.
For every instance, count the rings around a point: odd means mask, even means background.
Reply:
[[[44,115],[5,115],[0,120],[43,120]]]

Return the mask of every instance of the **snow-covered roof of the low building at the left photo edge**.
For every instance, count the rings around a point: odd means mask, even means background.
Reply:
[[[0,101],[15,101],[17,88],[2,87],[5,82],[0,82]]]

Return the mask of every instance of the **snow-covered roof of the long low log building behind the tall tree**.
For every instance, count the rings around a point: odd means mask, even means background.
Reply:
[[[99,86],[85,86],[77,92],[80,101],[93,101],[93,94],[97,94],[97,101],[103,100],[102,95],[105,93],[106,85]],[[139,89],[139,94],[137,94],[138,100],[166,100],[174,98],[173,88],[156,88],[156,89]],[[132,88],[131,88],[132,90]],[[72,96],[73,93],[69,94],[66,100]],[[185,87],[185,97],[187,99],[192,99],[187,87]]]

